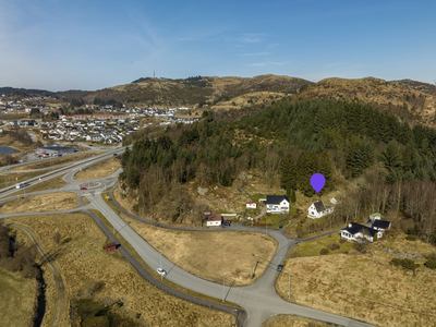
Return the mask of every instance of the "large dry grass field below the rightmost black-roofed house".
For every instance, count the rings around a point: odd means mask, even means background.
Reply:
[[[366,254],[292,258],[283,271],[292,271],[291,300],[299,304],[377,326],[434,326],[436,271],[423,266],[431,253],[432,245],[400,234],[371,244]],[[421,265],[415,274],[389,264],[400,254]],[[288,287],[288,274],[280,275],[276,289],[283,299]]]

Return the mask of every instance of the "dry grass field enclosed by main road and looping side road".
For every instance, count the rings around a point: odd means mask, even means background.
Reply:
[[[123,218],[168,259],[195,276],[215,282],[221,282],[226,271],[226,279],[229,278],[234,286],[252,283],[252,254],[257,255],[254,263],[258,262],[255,272],[259,277],[277,250],[272,238],[255,232],[172,231]]]

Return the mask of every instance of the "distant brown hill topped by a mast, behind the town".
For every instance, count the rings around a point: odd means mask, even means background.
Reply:
[[[253,92],[296,93],[312,84],[290,76],[261,75],[249,77],[189,77],[184,80],[138,78],[130,84],[93,92],[86,102],[123,101],[143,106],[216,105]],[[96,100],[97,99],[97,100]]]

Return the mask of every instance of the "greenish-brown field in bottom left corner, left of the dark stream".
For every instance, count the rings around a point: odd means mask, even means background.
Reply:
[[[36,302],[36,280],[0,269],[1,326],[29,326]]]

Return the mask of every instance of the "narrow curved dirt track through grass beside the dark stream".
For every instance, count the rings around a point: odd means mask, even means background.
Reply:
[[[32,242],[34,242],[34,244],[38,249],[39,253],[41,254],[43,258],[46,261],[47,265],[49,265],[51,271],[53,272],[56,287],[58,289],[58,304],[56,306],[56,312],[55,312],[53,320],[51,323],[51,327],[61,326],[62,311],[63,311],[63,306],[65,303],[65,288],[64,288],[62,276],[61,276],[57,265],[55,264],[55,262],[44,251],[43,246],[36,240],[35,235],[27,228],[25,228],[21,225],[17,225],[17,223],[11,223],[11,226],[20,228],[22,231],[24,231],[31,238]]]

